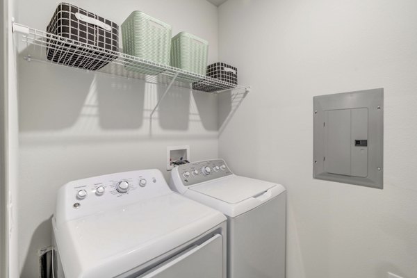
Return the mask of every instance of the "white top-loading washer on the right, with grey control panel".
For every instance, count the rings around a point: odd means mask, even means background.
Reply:
[[[236,176],[222,159],[179,165],[170,187],[227,215],[229,278],[284,278],[286,190]]]

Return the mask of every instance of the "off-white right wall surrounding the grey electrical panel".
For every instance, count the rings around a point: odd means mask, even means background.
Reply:
[[[219,58],[252,85],[220,157],[288,188],[288,278],[417,277],[417,1],[229,0],[219,10]],[[381,87],[384,190],[313,180],[313,96]]]

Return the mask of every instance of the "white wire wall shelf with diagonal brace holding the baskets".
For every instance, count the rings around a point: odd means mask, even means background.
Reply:
[[[198,92],[218,94],[231,91],[235,97],[236,95],[246,95],[250,91],[249,86],[235,85],[208,76],[187,72],[177,67],[153,63],[149,60],[124,54],[121,51],[110,51],[91,46],[90,44],[74,42],[73,40],[16,22],[13,22],[13,33],[17,33],[19,40],[25,44],[25,60],[35,60],[73,67],[88,72],[93,71],[121,76],[127,79],[142,79],[147,82],[166,84],[167,88],[154,107],[151,119],[172,85],[193,89],[192,84],[197,82],[199,86],[207,86],[214,90],[213,92],[196,90]]]

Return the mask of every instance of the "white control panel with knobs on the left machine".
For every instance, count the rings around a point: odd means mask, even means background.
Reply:
[[[127,209],[130,204],[171,194],[161,171],[139,170],[71,181],[58,190],[56,222],[92,213]]]

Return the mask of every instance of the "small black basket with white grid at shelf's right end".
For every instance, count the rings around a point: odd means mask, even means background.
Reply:
[[[213,79],[218,79],[230,83],[231,85],[225,85],[224,83],[211,83],[207,81],[197,81],[193,83],[194,90],[200,90],[204,92],[214,92],[218,90],[226,90],[229,88],[234,88],[238,85],[238,69],[227,65],[226,63],[214,63],[207,66],[207,76]]]

